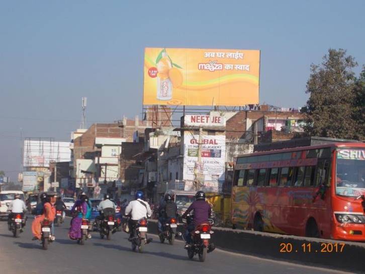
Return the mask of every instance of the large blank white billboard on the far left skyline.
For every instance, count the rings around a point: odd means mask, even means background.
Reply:
[[[70,143],[24,140],[24,167],[49,167],[49,162],[69,162]]]

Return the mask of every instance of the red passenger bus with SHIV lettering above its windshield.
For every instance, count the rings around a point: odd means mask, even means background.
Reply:
[[[237,158],[232,224],[365,241],[365,144],[333,143]]]

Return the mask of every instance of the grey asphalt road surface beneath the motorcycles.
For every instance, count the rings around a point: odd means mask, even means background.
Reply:
[[[205,262],[198,258],[190,260],[183,242],[173,246],[161,244],[156,236],[145,247],[145,253],[131,250],[127,234],[117,232],[110,241],[100,239],[98,233],[86,241],[76,244],[68,239],[69,218],[61,227],[55,228],[56,241],[48,250],[43,250],[38,241],[32,241],[28,219],[20,238],[14,238],[7,223],[0,222],[0,272],[13,273],[118,273],[129,272],[149,274],[163,273],[344,273],[333,269],[318,268],[235,254],[216,249],[207,255]],[[214,238],[213,238],[214,239]]]

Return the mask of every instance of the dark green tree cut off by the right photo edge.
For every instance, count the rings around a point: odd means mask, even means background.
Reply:
[[[365,65],[362,66],[360,76],[355,80],[353,89],[353,115],[355,120],[355,137],[359,140],[365,140]]]

